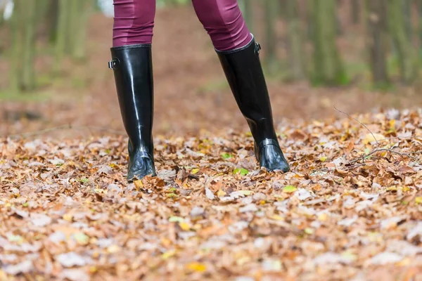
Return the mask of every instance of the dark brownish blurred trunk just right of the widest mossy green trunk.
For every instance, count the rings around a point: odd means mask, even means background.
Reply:
[[[376,86],[388,84],[387,74],[387,7],[385,0],[366,0],[369,56],[372,79]]]

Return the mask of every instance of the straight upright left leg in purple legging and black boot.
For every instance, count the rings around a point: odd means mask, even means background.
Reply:
[[[127,179],[155,176],[153,63],[155,0],[114,0],[112,60],[124,129],[129,136]]]

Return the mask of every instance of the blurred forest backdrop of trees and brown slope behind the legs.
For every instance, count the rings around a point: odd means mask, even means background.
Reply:
[[[276,122],[421,104],[421,0],[239,0]],[[1,135],[121,130],[112,0],[0,0]],[[159,133],[245,126],[190,0],[158,0]],[[236,112],[236,113],[234,113]]]

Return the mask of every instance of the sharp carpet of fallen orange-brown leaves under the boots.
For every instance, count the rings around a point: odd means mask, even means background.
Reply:
[[[130,184],[122,136],[2,139],[0,280],[421,280],[422,114],[356,118],[281,124],[287,174],[242,132],[156,138]]]

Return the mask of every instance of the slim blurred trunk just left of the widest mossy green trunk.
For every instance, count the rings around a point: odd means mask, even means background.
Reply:
[[[305,78],[305,60],[302,46],[302,28],[299,18],[298,1],[287,0],[288,51],[291,77],[293,80]]]

